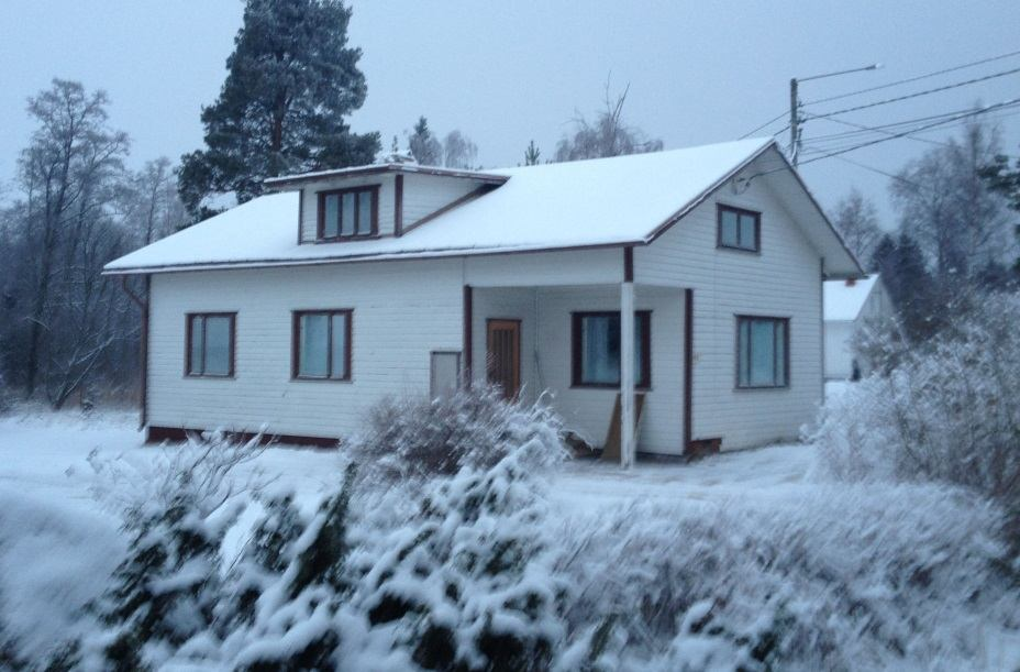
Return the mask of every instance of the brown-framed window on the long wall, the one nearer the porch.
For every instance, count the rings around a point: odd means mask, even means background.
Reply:
[[[293,313],[295,378],[351,379],[351,315],[346,309]]]

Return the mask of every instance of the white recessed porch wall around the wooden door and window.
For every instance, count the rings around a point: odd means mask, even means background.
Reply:
[[[617,392],[570,386],[572,313],[619,310],[619,286],[478,288],[473,307],[475,379],[486,378],[486,320],[521,320],[525,398],[534,400],[540,392],[551,392],[566,427],[591,444],[602,445]],[[635,309],[652,311],[652,389],[645,393],[637,450],[678,455],[684,410],[684,296],[676,288],[639,286]]]

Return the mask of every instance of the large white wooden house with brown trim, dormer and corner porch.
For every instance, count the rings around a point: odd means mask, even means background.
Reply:
[[[627,460],[635,436],[665,455],[790,439],[822,398],[822,279],[862,276],[770,140],[266,185],[107,266],[147,288],[152,440],[336,442],[458,378],[548,390],[594,445],[621,395]]]

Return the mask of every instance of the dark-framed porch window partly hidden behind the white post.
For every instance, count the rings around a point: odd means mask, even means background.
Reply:
[[[573,384],[620,386],[620,313],[575,312]],[[652,385],[652,313],[634,312],[634,385]]]

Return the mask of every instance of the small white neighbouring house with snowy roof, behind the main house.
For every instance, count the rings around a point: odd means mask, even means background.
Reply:
[[[878,274],[825,283],[825,378],[853,381],[872,371],[853,352],[854,335],[867,326],[892,319],[889,293]]]

